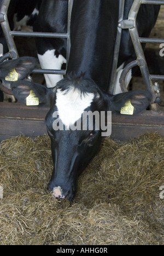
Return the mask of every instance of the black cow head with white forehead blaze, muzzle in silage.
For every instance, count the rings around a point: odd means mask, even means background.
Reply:
[[[66,197],[71,201],[75,194],[77,177],[84,170],[101,144],[101,129],[96,127],[96,118],[90,129],[89,118],[82,118],[89,110],[118,112],[131,102],[133,114],[149,106],[151,94],[148,91],[130,91],[118,95],[103,92],[91,79],[83,76],[67,76],[58,82],[56,88],[47,89],[27,81],[12,84],[15,97],[26,104],[26,98],[33,91],[39,103],[50,104],[45,121],[51,139],[54,170],[48,189],[56,198]],[[98,116],[99,118],[99,116]],[[75,129],[82,123],[85,129]]]

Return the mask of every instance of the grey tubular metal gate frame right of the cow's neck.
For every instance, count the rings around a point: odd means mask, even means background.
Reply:
[[[121,42],[121,34],[122,30],[128,29],[130,32],[130,36],[133,42],[134,50],[136,52],[137,60],[129,63],[124,70],[122,71],[120,77],[120,87],[122,92],[127,91],[127,85],[125,83],[126,75],[130,71],[131,68],[139,66],[140,71],[142,73],[142,77],[144,79],[145,86],[148,91],[153,94],[153,101],[155,103],[160,103],[160,89],[159,84],[155,82],[153,84],[152,80],[164,80],[164,75],[151,75],[149,73],[147,61],[145,60],[144,51],[142,48],[142,43],[164,43],[164,39],[159,38],[140,38],[138,35],[137,30],[137,15],[141,4],[157,4],[157,5],[164,5],[164,1],[158,0],[134,0],[130,13],[128,14],[128,20],[124,20],[124,7],[125,7],[125,0],[120,0],[120,14],[119,14],[119,24],[118,24],[118,34],[116,38],[116,45],[114,51],[114,64],[113,64],[113,75],[111,80],[111,87],[109,89],[110,94],[114,92],[114,84],[115,84],[115,73],[118,65],[118,57],[119,57],[119,49],[120,49],[120,42]],[[151,109],[154,111],[158,110],[157,104],[152,104]]]

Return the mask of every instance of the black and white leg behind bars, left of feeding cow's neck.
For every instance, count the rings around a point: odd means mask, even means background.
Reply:
[[[67,33],[67,20],[67,0],[43,0],[33,28],[36,32]],[[37,38],[36,46],[43,69],[61,69],[66,62],[67,39]],[[46,86],[54,87],[62,78],[60,74],[45,74]]]

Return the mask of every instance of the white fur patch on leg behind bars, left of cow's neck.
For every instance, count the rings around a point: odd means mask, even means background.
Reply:
[[[43,69],[61,69],[63,63],[66,63],[66,59],[59,55],[55,56],[55,50],[48,50],[43,55],[38,54],[40,66]],[[45,82],[48,88],[56,86],[57,82],[63,79],[63,75],[58,74],[45,74]]]

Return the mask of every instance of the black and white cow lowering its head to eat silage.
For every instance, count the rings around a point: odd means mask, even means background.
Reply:
[[[67,0],[43,1],[50,7],[45,18],[45,27],[65,31],[66,20],[61,19],[65,13]],[[55,8],[54,8],[55,2]],[[43,5],[44,6],[44,5]],[[42,9],[43,10],[43,9]],[[49,104],[46,126],[51,138],[54,170],[48,185],[56,198],[66,197],[73,200],[78,175],[84,170],[101,144],[101,129],[97,129],[96,119],[89,127],[89,119],[82,119],[84,112],[121,112],[128,102],[133,114],[147,108],[151,102],[148,91],[130,91],[124,94],[109,95],[106,92],[113,61],[116,32],[118,27],[119,0],[74,0],[71,22],[71,54],[67,75],[54,88],[34,84],[28,81],[13,82],[11,88],[15,97],[27,104],[31,95],[39,104]],[[53,18],[51,23],[49,18]],[[40,24],[43,24],[40,21]],[[56,45],[61,45],[56,40]],[[56,52],[65,50],[65,42]],[[42,47],[41,47],[42,48]],[[28,73],[28,72],[27,72]],[[33,96],[32,96],[33,95]],[[131,113],[132,114],[132,113]],[[62,129],[56,129],[57,124]],[[86,129],[72,129],[77,123],[84,123]],[[56,125],[55,125],[56,124]],[[60,127],[60,126],[58,126]]]

